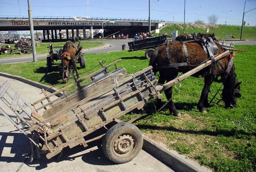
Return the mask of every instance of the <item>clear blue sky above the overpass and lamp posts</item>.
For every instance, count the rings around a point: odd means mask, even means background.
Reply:
[[[87,0],[30,1],[33,15],[87,16]],[[174,16],[175,21],[183,21],[184,0],[150,1],[152,19],[173,21]],[[201,19],[208,23],[207,17],[216,14],[219,18],[218,24],[224,24],[227,21],[227,24],[240,25],[244,2],[244,0],[186,0],[186,22]],[[18,6],[18,0],[0,0],[0,15],[27,16],[27,0],[19,0],[19,4],[20,6]],[[148,0],[89,0],[89,5],[90,17],[148,18]],[[200,6],[202,7],[199,8]],[[256,8],[256,1],[246,2],[245,11],[253,8]],[[246,13],[245,21],[255,26],[256,10]]]

